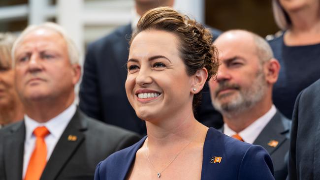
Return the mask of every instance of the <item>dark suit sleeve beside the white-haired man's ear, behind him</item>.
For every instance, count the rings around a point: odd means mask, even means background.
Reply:
[[[99,83],[94,45],[88,47],[84,62],[84,73],[79,91],[79,107],[86,115],[96,120],[102,119],[101,102],[99,98]]]

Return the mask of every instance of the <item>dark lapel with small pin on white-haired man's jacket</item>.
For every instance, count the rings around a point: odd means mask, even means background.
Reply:
[[[60,137],[50,159],[43,170],[41,180],[54,180],[64,168],[72,154],[84,141],[83,131],[87,129],[87,121],[77,110]]]

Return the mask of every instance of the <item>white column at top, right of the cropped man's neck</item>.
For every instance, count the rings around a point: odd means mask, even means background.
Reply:
[[[175,0],[174,8],[200,23],[204,23],[204,0]]]

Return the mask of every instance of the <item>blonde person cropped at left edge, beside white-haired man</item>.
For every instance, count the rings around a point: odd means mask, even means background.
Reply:
[[[11,48],[15,37],[0,33],[0,128],[23,119],[23,107],[14,87]]]

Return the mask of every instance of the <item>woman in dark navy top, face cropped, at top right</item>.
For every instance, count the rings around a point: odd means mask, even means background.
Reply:
[[[320,0],[272,0],[282,30],[267,36],[281,69],[273,102],[291,119],[298,93],[320,78]]]

